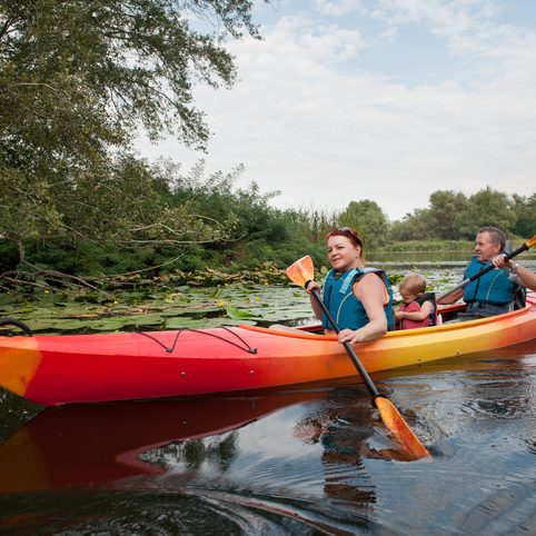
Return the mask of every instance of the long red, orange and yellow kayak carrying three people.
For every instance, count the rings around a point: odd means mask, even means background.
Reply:
[[[529,294],[523,309],[390,331],[354,349],[371,374],[534,338],[536,294]],[[356,377],[356,369],[337,337],[307,328],[295,332],[242,325],[0,337],[0,386],[46,406],[245,391],[346,377]]]

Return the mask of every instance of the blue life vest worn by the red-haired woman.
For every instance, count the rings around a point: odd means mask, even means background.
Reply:
[[[377,268],[354,268],[336,278],[335,270],[329,270],[324,282],[324,301],[337,322],[339,329],[359,329],[370,320],[361,301],[354,294],[354,284],[366,274],[377,274],[387,289],[389,301],[384,306],[387,329],[393,329],[393,289],[384,270]],[[326,315],[322,315],[322,326],[332,329]]]

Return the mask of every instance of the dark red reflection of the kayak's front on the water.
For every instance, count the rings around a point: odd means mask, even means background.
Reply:
[[[141,455],[240,428],[321,391],[47,408],[0,445],[0,493],[161,474]]]

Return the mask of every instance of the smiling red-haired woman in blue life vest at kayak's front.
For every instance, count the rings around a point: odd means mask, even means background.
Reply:
[[[380,337],[393,327],[393,289],[385,271],[365,267],[364,246],[356,230],[339,227],[328,235],[331,270],[324,284],[324,301],[337,321],[340,343],[360,343]],[[329,322],[311,296],[320,290],[316,281],[307,285],[311,307],[326,331]]]

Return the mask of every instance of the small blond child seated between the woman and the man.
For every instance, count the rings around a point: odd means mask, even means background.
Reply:
[[[419,274],[408,274],[398,285],[403,298],[396,311],[399,329],[424,328],[437,324],[434,292],[426,292],[426,279]]]

